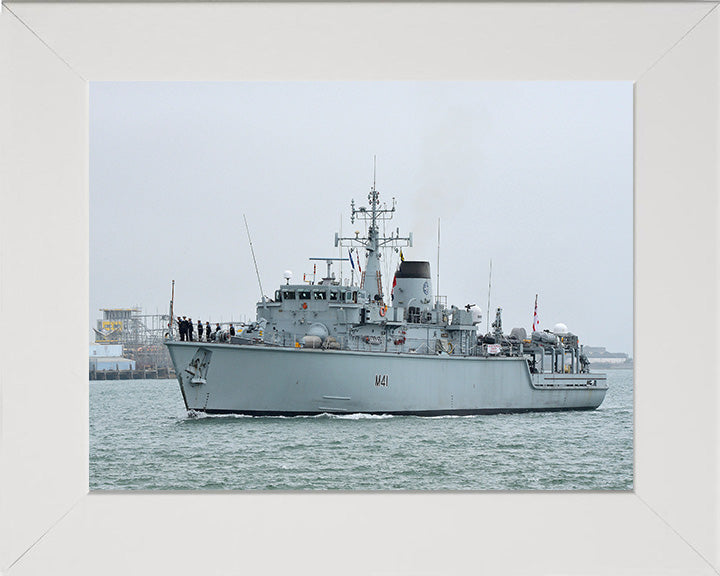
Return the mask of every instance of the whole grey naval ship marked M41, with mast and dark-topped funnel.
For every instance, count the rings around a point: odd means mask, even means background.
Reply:
[[[285,273],[274,298],[262,296],[256,321],[210,342],[166,345],[190,414],[418,416],[593,410],[607,391],[592,373],[578,337],[559,324],[505,334],[501,309],[480,333],[479,307],[447,306],[433,295],[430,263],[402,259],[412,234],[381,236],[395,211],[372,186],[368,206],[351,203],[351,221],[367,236],[335,235],[335,246],[363,254],[357,278],[291,284]],[[251,244],[252,248],[252,244]],[[400,249],[390,298],[383,291],[384,250]],[[345,260],[345,258],[343,258]],[[259,280],[259,277],[258,277]],[[262,290],[262,289],[261,289]],[[171,313],[172,318],[172,313]]]

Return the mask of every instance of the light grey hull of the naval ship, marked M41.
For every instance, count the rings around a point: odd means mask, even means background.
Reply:
[[[188,411],[299,416],[593,410],[603,374],[531,374],[482,358],[168,342]],[[197,359],[204,365],[199,374]]]

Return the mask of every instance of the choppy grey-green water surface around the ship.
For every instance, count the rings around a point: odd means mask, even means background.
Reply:
[[[631,370],[592,412],[189,418],[174,380],[90,382],[92,490],[630,490]]]

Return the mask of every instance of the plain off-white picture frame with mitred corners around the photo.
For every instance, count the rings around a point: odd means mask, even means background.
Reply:
[[[5,3],[0,571],[717,574],[718,12]],[[87,83],[180,79],[634,81],[633,492],[88,494]]]

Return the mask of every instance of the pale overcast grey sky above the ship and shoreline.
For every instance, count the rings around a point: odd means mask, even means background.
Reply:
[[[167,312],[173,279],[181,315],[254,319],[243,214],[272,296],[338,255],[341,216],[364,231],[373,156],[388,231],[413,232],[433,283],[440,219],[449,304],[485,314],[492,259],[506,332],[538,294],[541,329],[632,353],[630,82],[91,83],[91,325]]]

